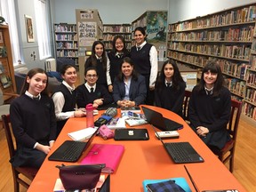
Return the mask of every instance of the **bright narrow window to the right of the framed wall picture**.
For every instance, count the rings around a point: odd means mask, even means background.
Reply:
[[[49,31],[49,20],[46,12],[45,0],[35,0],[36,33],[39,47],[39,59],[44,60],[51,57],[51,41]]]

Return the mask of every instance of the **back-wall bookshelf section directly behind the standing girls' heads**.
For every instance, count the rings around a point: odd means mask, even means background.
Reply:
[[[124,36],[126,48],[128,50],[132,47],[132,26],[131,24],[104,24],[103,25],[103,43],[105,49],[110,51],[112,49],[112,41],[114,36]]]

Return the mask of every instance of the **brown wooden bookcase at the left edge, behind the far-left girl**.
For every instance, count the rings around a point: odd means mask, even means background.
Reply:
[[[7,25],[0,25],[0,88],[4,93],[4,100],[11,99],[16,93],[12,49]]]

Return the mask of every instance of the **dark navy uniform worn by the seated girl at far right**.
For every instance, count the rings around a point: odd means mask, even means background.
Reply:
[[[188,103],[190,127],[195,132],[197,126],[207,127],[209,133],[201,139],[207,145],[221,149],[230,140],[226,128],[231,109],[230,92],[228,88],[222,87],[220,95],[213,96],[212,93],[205,92],[205,90],[196,92],[196,87],[194,87]]]

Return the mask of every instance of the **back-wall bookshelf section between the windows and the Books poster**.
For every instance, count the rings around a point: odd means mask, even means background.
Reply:
[[[76,24],[54,24],[55,51],[57,58],[74,60],[78,65]]]

